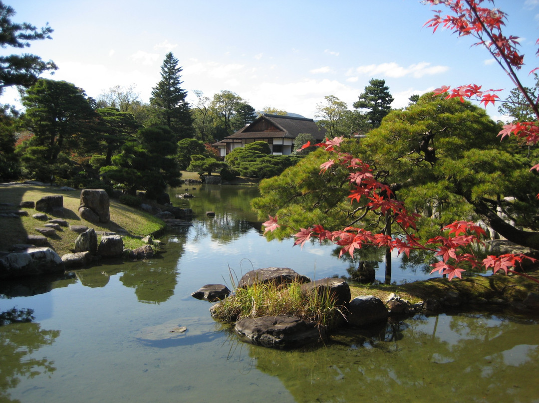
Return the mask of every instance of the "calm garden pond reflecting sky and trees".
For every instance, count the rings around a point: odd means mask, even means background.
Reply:
[[[249,209],[256,187],[189,191],[195,198],[170,194],[195,211],[194,225],[164,235],[158,258],[0,286],[0,311],[35,316],[0,326],[0,401],[539,401],[539,326],[526,318],[418,315],[299,351],[238,342],[193,291],[230,287],[230,273],[253,267],[320,279],[347,275],[350,263],[331,246],[267,242]],[[398,266],[393,281],[429,277]],[[170,333],[178,326],[187,330]]]

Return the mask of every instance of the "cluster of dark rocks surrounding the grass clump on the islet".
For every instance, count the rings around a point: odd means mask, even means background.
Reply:
[[[308,277],[285,267],[251,270],[241,277],[237,287],[243,288],[255,283],[267,282],[287,284],[293,281],[301,282],[304,290],[315,290],[317,293],[327,293],[333,297],[338,309],[342,312],[342,320],[338,321],[340,325],[369,326],[387,321],[390,315],[395,314],[393,309],[388,309],[384,302],[375,296],[368,295],[351,299],[350,287],[343,279],[328,277],[311,281]],[[191,295],[200,300],[219,301],[210,308],[212,317],[217,318],[216,311],[218,305],[222,303],[220,301],[229,297],[231,293],[223,284],[206,284]],[[410,314],[419,308],[419,305],[411,305],[407,301],[399,300],[395,295],[391,295],[388,303],[391,303],[393,307],[397,304],[405,304],[406,310],[402,309],[400,313],[406,311]],[[233,321],[236,319],[232,318]],[[245,342],[277,349],[295,348],[320,341],[321,338],[328,336],[316,323],[293,315],[242,318],[234,323],[234,332]]]

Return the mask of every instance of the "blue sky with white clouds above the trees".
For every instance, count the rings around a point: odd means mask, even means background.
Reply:
[[[169,51],[183,67],[191,102],[193,90],[211,98],[226,89],[257,110],[271,106],[306,117],[315,117],[325,95],[352,108],[371,78],[385,79],[395,108],[441,85],[473,83],[505,93],[514,87],[486,50],[471,46],[472,38],[423,27],[433,12],[418,0],[4,3],[17,12],[16,22],[49,22],[53,39],[25,51],[52,59],[59,66],[53,79],[72,82],[93,98],[116,85],[135,85],[148,102]],[[539,66],[539,0],[495,6],[509,14],[505,33],[522,38],[526,65],[520,75],[533,85],[528,72]],[[13,96],[8,91],[0,101]],[[496,108],[488,112],[499,117]]]

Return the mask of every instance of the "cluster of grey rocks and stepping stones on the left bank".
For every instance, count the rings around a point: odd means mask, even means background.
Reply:
[[[81,218],[92,223],[107,223],[110,219],[109,197],[102,189],[85,189],[81,191],[79,214]],[[143,238],[144,245],[136,249],[125,249],[119,234],[96,232],[85,225],[70,225],[63,218],[50,219],[47,213],[56,217],[66,216],[63,196],[54,194],[45,196],[36,203],[23,201],[19,207],[35,208],[39,213],[34,219],[44,221],[43,226],[36,227],[38,234],[29,234],[26,244],[12,246],[12,252],[0,255],[0,279],[43,274],[63,273],[66,268],[81,268],[91,265],[101,258],[127,258],[141,260],[151,258],[162,246],[158,240],[150,236]],[[5,213],[5,211],[4,211]],[[6,217],[27,216],[26,211],[9,211]],[[49,246],[49,238],[57,237],[58,231],[79,233],[75,240],[73,253],[60,256]],[[98,234],[101,238],[98,240]]]

